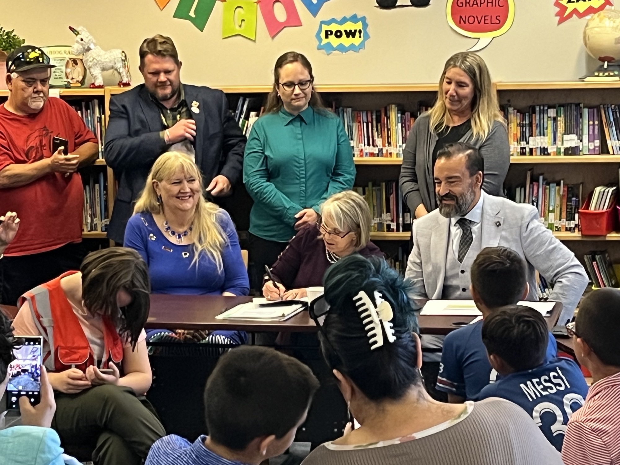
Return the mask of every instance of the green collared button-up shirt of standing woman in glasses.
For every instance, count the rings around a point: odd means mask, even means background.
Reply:
[[[353,150],[340,118],[312,107],[263,115],[247,141],[243,180],[254,199],[250,232],[288,241],[299,211],[319,212],[327,197],[353,187]]]

